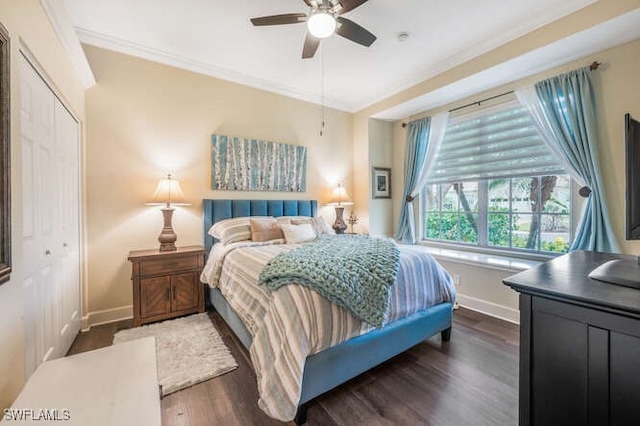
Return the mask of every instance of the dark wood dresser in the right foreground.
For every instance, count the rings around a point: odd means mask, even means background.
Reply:
[[[640,290],[588,274],[630,256],[578,251],[504,283],[520,293],[520,425],[640,423]]]

